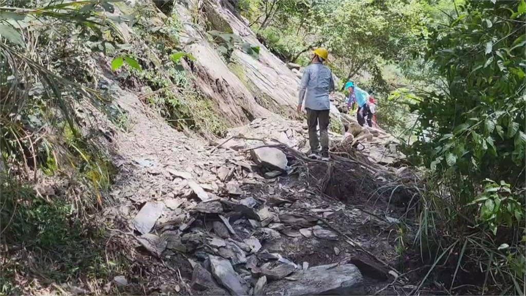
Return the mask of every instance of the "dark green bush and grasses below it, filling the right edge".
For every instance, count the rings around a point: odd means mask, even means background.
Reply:
[[[449,24],[431,27],[427,41],[424,58],[433,68],[433,87],[410,102],[410,110],[418,114],[411,160],[430,170],[428,184],[440,184],[421,200],[417,241],[422,256],[426,251],[444,254],[448,249],[439,246],[457,249],[464,242],[457,270],[462,264],[479,265],[486,274],[483,290],[515,294],[522,293],[525,268],[520,238],[526,21],[519,17],[521,5],[456,5]]]

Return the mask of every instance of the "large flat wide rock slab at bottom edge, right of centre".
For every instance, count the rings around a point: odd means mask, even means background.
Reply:
[[[362,275],[353,264],[319,265],[267,285],[267,295],[363,295]]]

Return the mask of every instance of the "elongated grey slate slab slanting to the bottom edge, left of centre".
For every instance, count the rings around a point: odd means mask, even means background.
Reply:
[[[210,259],[210,268],[214,278],[223,287],[227,288],[231,295],[248,294],[247,287],[228,260],[213,255],[209,255],[208,258]]]

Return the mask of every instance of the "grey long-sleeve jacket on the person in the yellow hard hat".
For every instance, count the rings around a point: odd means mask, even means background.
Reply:
[[[334,78],[328,67],[321,63],[310,64],[301,77],[298,105],[312,110],[329,110],[329,92],[334,91]]]

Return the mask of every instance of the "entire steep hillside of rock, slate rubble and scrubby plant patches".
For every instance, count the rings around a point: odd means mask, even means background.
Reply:
[[[38,241],[6,241],[5,292],[362,294],[388,284],[398,274],[395,239],[381,229],[397,219],[375,212],[402,215],[412,193],[411,174],[390,167],[399,159],[392,137],[362,129],[333,105],[333,161],[309,160],[305,123],[295,114],[297,75],[228,7],[145,1],[118,3],[107,15],[138,11],[135,23],[115,24],[123,44],[114,58],[82,55],[79,68],[89,65],[91,76],[72,76],[95,82],[110,106],[75,105],[83,142],[68,134],[65,149],[87,172],[26,165],[39,177],[27,194],[45,206],[22,213],[15,206],[13,225],[18,231],[25,219],[43,229],[30,232]],[[217,32],[236,40],[229,56]],[[116,69],[119,56],[139,65]],[[35,216],[70,196],[75,206],[57,208],[57,220]]]

